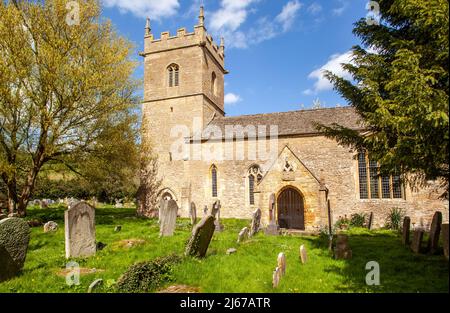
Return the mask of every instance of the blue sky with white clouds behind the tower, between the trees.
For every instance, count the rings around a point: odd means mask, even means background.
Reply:
[[[329,69],[347,77],[340,63],[359,44],[353,23],[367,14],[366,0],[102,0],[103,16],[136,45],[143,77],[145,18],[156,38],[197,24],[205,7],[207,30],[225,37],[225,111],[228,116],[344,106],[323,77]]]

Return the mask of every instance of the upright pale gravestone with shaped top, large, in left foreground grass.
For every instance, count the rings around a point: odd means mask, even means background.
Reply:
[[[89,257],[95,254],[95,209],[78,202],[64,212],[66,258]]]

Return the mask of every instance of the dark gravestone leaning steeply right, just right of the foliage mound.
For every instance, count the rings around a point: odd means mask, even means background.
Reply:
[[[214,230],[214,216],[205,216],[192,230],[191,238],[186,245],[186,256],[205,257]]]

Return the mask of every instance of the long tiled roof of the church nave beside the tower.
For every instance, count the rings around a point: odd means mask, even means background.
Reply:
[[[278,136],[289,135],[313,135],[317,134],[317,129],[314,123],[320,123],[324,125],[331,125],[337,123],[347,128],[362,130],[363,127],[360,124],[360,117],[352,107],[339,107],[339,108],[323,108],[313,110],[301,110],[268,114],[256,114],[256,115],[241,115],[231,117],[216,117],[207,126],[206,129],[213,130],[214,128],[220,128],[222,132],[222,138],[225,136],[225,127],[228,126],[255,126],[256,130],[258,125],[266,126],[267,134],[269,135],[270,125],[278,126]],[[209,136],[205,136],[211,133]],[[203,139],[219,139],[218,136],[212,132],[203,131]]]

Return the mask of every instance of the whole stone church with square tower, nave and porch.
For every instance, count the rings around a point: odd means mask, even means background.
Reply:
[[[227,117],[224,110],[225,47],[204,26],[181,28],[156,39],[147,20],[142,138],[158,156],[160,198],[177,201],[184,217],[220,200],[222,218],[251,218],[269,201],[281,228],[318,230],[341,216],[373,212],[385,224],[403,208],[413,226],[427,227],[436,210],[448,221],[448,202],[435,183],[413,191],[400,176],[379,177],[368,155],[325,138],[315,123],[363,131],[351,107]],[[264,79],[264,78],[261,78]],[[276,104],[274,104],[276,105]],[[255,132],[256,130],[256,132]],[[269,151],[269,152],[267,152]]]

